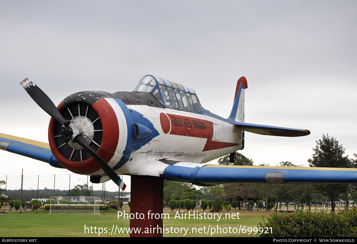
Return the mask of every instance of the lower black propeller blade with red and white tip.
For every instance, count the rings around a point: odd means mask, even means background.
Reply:
[[[126,185],[122,179],[120,179],[119,175],[115,173],[115,171],[102,159],[84,140],[82,135],[78,135],[75,137],[74,141],[81,145],[84,149],[86,149],[89,154],[97,161],[97,164],[99,164],[100,168],[109,176],[109,178],[114,181],[116,185],[120,187],[123,191],[126,188]]]

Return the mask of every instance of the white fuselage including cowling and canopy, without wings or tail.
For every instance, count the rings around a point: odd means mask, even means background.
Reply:
[[[57,108],[117,174],[160,176],[165,165],[202,164],[243,147],[243,131],[203,109],[194,90],[154,76],[144,76],[133,92],[84,91]],[[57,130],[52,120],[49,142],[62,166],[105,175],[79,145],[63,143]],[[162,170],[146,173],[153,164]]]

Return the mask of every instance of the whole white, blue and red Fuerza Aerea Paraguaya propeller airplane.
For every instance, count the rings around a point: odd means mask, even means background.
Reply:
[[[195,90],[153,75],[145,75],[132,92],[82,91],[67,96],[57,107],[31,80],[26,78],[21,85],[51,116],[49,144],[0,134],[0,149],[90,175],[92,183],[111,179],[122,190],[126,185],[118,175],[131,175],[132,205],[133,195],[152,199],[151,210],[156,203],[161,205],[164,179],[199,186],[357,181],[353,169],[208,163],[228,154],[233,163],[236,151],[245,146],[245,131],[288,137],[310,134],[245,123],[244,76],[237,81],[227,119],[204,109]],[[161,203],[156,197],[160,194]],[[140,208],[134,203],[135,210]],[[161,207],[154,210],[162,213]],[[142,225],[138,221],[133,226]]]

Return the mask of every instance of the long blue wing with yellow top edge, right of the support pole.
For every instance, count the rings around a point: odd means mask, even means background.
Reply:
[[[357,183],[357,169],[204,165],[193,168],[192,163],[166,167],[161,177],[186,181],[196,185],[272,184],[272,183]]]

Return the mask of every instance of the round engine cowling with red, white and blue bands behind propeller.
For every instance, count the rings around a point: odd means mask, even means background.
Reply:
[[[68,96],[57,106],[62,116],[79,128],[84,139],[114,170],[130,157],[133,123],[125,104],[111,93],[84,91]],[[51,118],[49,144],[57,161],[66,169],[86,175],[104,175],[104,171],[79,144],[65,142],[60,125]]]

